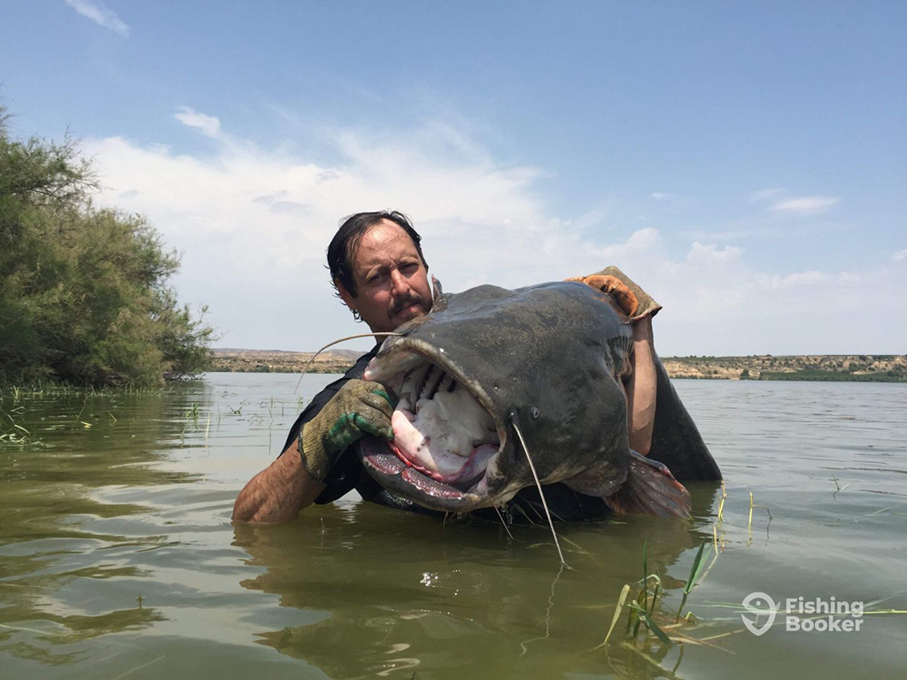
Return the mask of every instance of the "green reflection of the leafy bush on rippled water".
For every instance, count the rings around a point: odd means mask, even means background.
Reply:
[[[115,500],[103,491],[197,479],[153,467],[161,442],[180,432],[174,415],[186,399],[174,393],[166,399],[39,395],[3,401],[4,429],[19,435],[0,449],[5,653],[71,664],[83,656],[73,651],[77,643],[163,620],[154,607],[141,607],[141,589],[125,599],[110,597],[151,574],[131,556],[166,537],[131,526],[151,510],[134,501],[141,494]]]

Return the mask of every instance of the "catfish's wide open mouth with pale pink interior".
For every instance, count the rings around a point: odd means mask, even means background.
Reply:
[[[481,503],[501,450],[492,414],[454,371],[398,351],[373,360],[365,375],[399,395],[391,417],[394,442],[367,438],[360,447],[366,469],[395,491],[446,500],[439,510],[450,510],[450,502]]]

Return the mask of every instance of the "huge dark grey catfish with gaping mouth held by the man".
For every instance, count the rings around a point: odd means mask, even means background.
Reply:
[[[431,510],[500,506],[535,483],[532,461],[541,484],[611,510],[686,516],[688,491],[658,460],[720,479],[658,360],[652,451],[630,450],[620,381],[632,332],[610,293],[574,282],[435,293],[366,368],[399,395],[394,442],[358,448],[385,490]]]

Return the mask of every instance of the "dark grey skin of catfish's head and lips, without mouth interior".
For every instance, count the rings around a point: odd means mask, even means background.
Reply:
[[[385,489],[433,510],[501,505],[534,483],[512,430],[516,420],[541,483],[563,481],[606,502],[618,498],[631,457],[639,454],[629,450],[627,403],[618,383],[629,370],[632,332],[608,294],[573,282],[481,286],[438,297],[429,315],[398,332],[369,364],[366,379],[389,383],[424,360],[441,366],[491,413],[500,450],[483,480],[463,491],[407,467],[385,442],[366,438],[359,455]],[[670,478],[658,469],[658,484],[659,475]]]

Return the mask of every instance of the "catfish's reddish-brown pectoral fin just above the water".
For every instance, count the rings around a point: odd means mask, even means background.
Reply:
[[[604,501],[620,514],[689,517],[689,491],[664,464],[635,451],[630,452],[627,481]]]

